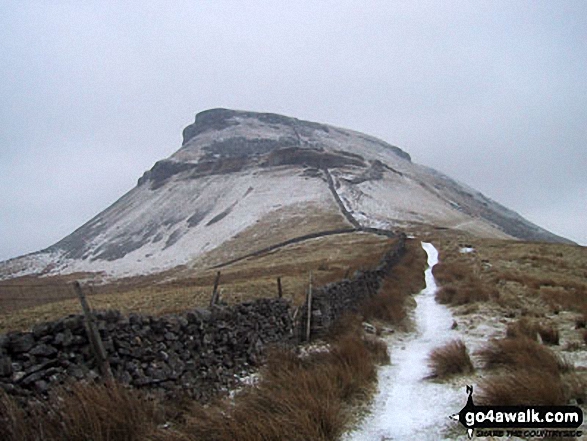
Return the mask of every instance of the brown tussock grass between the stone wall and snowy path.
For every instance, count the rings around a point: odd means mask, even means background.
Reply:
[[[23,410],[0,395],[3,441],[134,440],[336,440],[349,422],[350,403],[368,397],[376,362],[388,359],[386,346],[348,329],[328,352],[297,356],[274,349],[258,385],[209,406],[191,403],[177,413],[115,383],[75,384],[48,402]]]

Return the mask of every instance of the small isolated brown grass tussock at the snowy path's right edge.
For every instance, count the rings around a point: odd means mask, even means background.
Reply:
[[[458,339],[434,349],[428,356],[430,377],[445,379],[473,372],[474,367],[465,343]]]

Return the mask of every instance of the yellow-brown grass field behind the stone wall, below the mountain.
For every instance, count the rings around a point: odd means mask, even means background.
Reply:
[[[376,265],[392,242],[393,239],[365,233],[328,236],[219,269],[183,269],[180,274],[135,277],[89,285],[86,290],[95,309],[161,315],[207,306],[216,273],[221,271],[221,300],[226,303],[275,297],[277,277],[281,277],[284,297],[300,304],[310,271],[317,286],[340,280],[355,270]],[[0,284],[0,333],[80,313],[79,302],[70,287],[72,279],[28,278]]]

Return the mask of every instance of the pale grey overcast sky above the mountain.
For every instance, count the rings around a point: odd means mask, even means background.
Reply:
[[[587,1],[3,0],[0,260],[214,107],[378,136],[587,245]]]

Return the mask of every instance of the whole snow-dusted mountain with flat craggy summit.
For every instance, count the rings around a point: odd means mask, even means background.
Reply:
[[[0,263],[27,274],[209,267],[306,234],[433,226],[562,241],[371,136],[270,113],[212,109],[138,185],[55,245]]]

